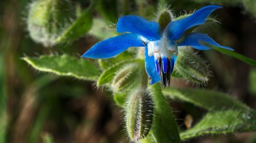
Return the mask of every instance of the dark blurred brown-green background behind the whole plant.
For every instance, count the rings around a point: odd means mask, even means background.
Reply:
[[[247,1],[100,0],[93,17],[105,23],[115,22],[125,14],[152,19],[157,5],[166,2],[176,15],[211,3],[224,6],[214,13],[221,24],[207,28],[205,33],[238,53],[256,58],[256,18],[253,16],[256,16],[256,5],[246,5]],[[0,142],[129,142],[122,110],[114,104],[110,92],[97,89],[94,82],[38,72],[22,60],[25,55],[62,53],[79,58],[100,40],[99,36],[89,33],[74,43],[51,48],[35,43],[29,37],[26,24],[30,3],[30,0],[0,2]],[[72,4],[86,9],[90,2],[80,0]],[[256,69],[213,50],[200,53],[212,69],[211,79],[204,88],[234,95],[255,109]],[[177,79],[172,83],[175,87],[194,86]],[[170,101],[170,105],[182,129],[185,129],[186,115],[192,115],[195,124],[205,113],[189,103]],[[206,136],[188,142],[253,143],[256,133]]]

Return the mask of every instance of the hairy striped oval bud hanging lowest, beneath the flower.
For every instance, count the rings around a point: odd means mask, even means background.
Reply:
[[[145,90],[131,95],[127,103],[126,128],[130,138],[137,141],[147,136],[153,121],[153,100]]]

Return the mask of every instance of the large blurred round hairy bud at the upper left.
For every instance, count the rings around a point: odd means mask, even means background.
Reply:
[[[75,18],[75,9],[69,0],[38,0],[29,7],[28,31],[30,37],[45,47],[63,33]]]

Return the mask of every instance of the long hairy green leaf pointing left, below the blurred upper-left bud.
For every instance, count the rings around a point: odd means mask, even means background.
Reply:
[[[42,55],[38,58],[23,58],[33,68],[51,72],[62,76],[73,76],[84,80],[97,80],[99,77],[98,68],[91,62],[84,59],[77,59],[70,55]]]

